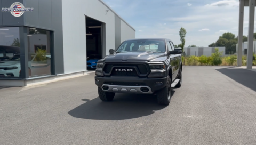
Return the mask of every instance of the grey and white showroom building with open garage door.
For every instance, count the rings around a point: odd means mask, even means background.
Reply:
[[[5,11],[17,7],[33,11]],[[0,0],[0,8],[0,86],[85,75],[90,55],[104,58],[135,38],[135,29],[101,0]]]

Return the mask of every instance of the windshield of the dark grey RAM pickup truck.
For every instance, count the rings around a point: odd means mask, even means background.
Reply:
[[[120,52],[156,52],[165,53],[166,46],[164,40],[145,39],[124,41],[116,50]]]

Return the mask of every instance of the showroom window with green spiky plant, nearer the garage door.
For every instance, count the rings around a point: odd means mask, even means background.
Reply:
[[[50,31],[28,28],[29,77],[51,75]]]

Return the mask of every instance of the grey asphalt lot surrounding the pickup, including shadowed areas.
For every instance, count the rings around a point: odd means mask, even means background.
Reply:
[[[255,144],[256,72],[184,67],[170,106],[101,102],[94,74],[0,89],[0,144]]]

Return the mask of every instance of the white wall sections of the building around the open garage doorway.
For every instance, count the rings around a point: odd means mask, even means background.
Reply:
[[[110,10],[107,12],[107,10],[109,10],[108,7],[97,0],[62,1],[65,74],[86,70],[85,15],[106,23],[105,52],[108,54],[109,49],[115,49],[115,13]],[[121,25],[122,40],[135,37],[135,32],[131,27],[126,23]]]

